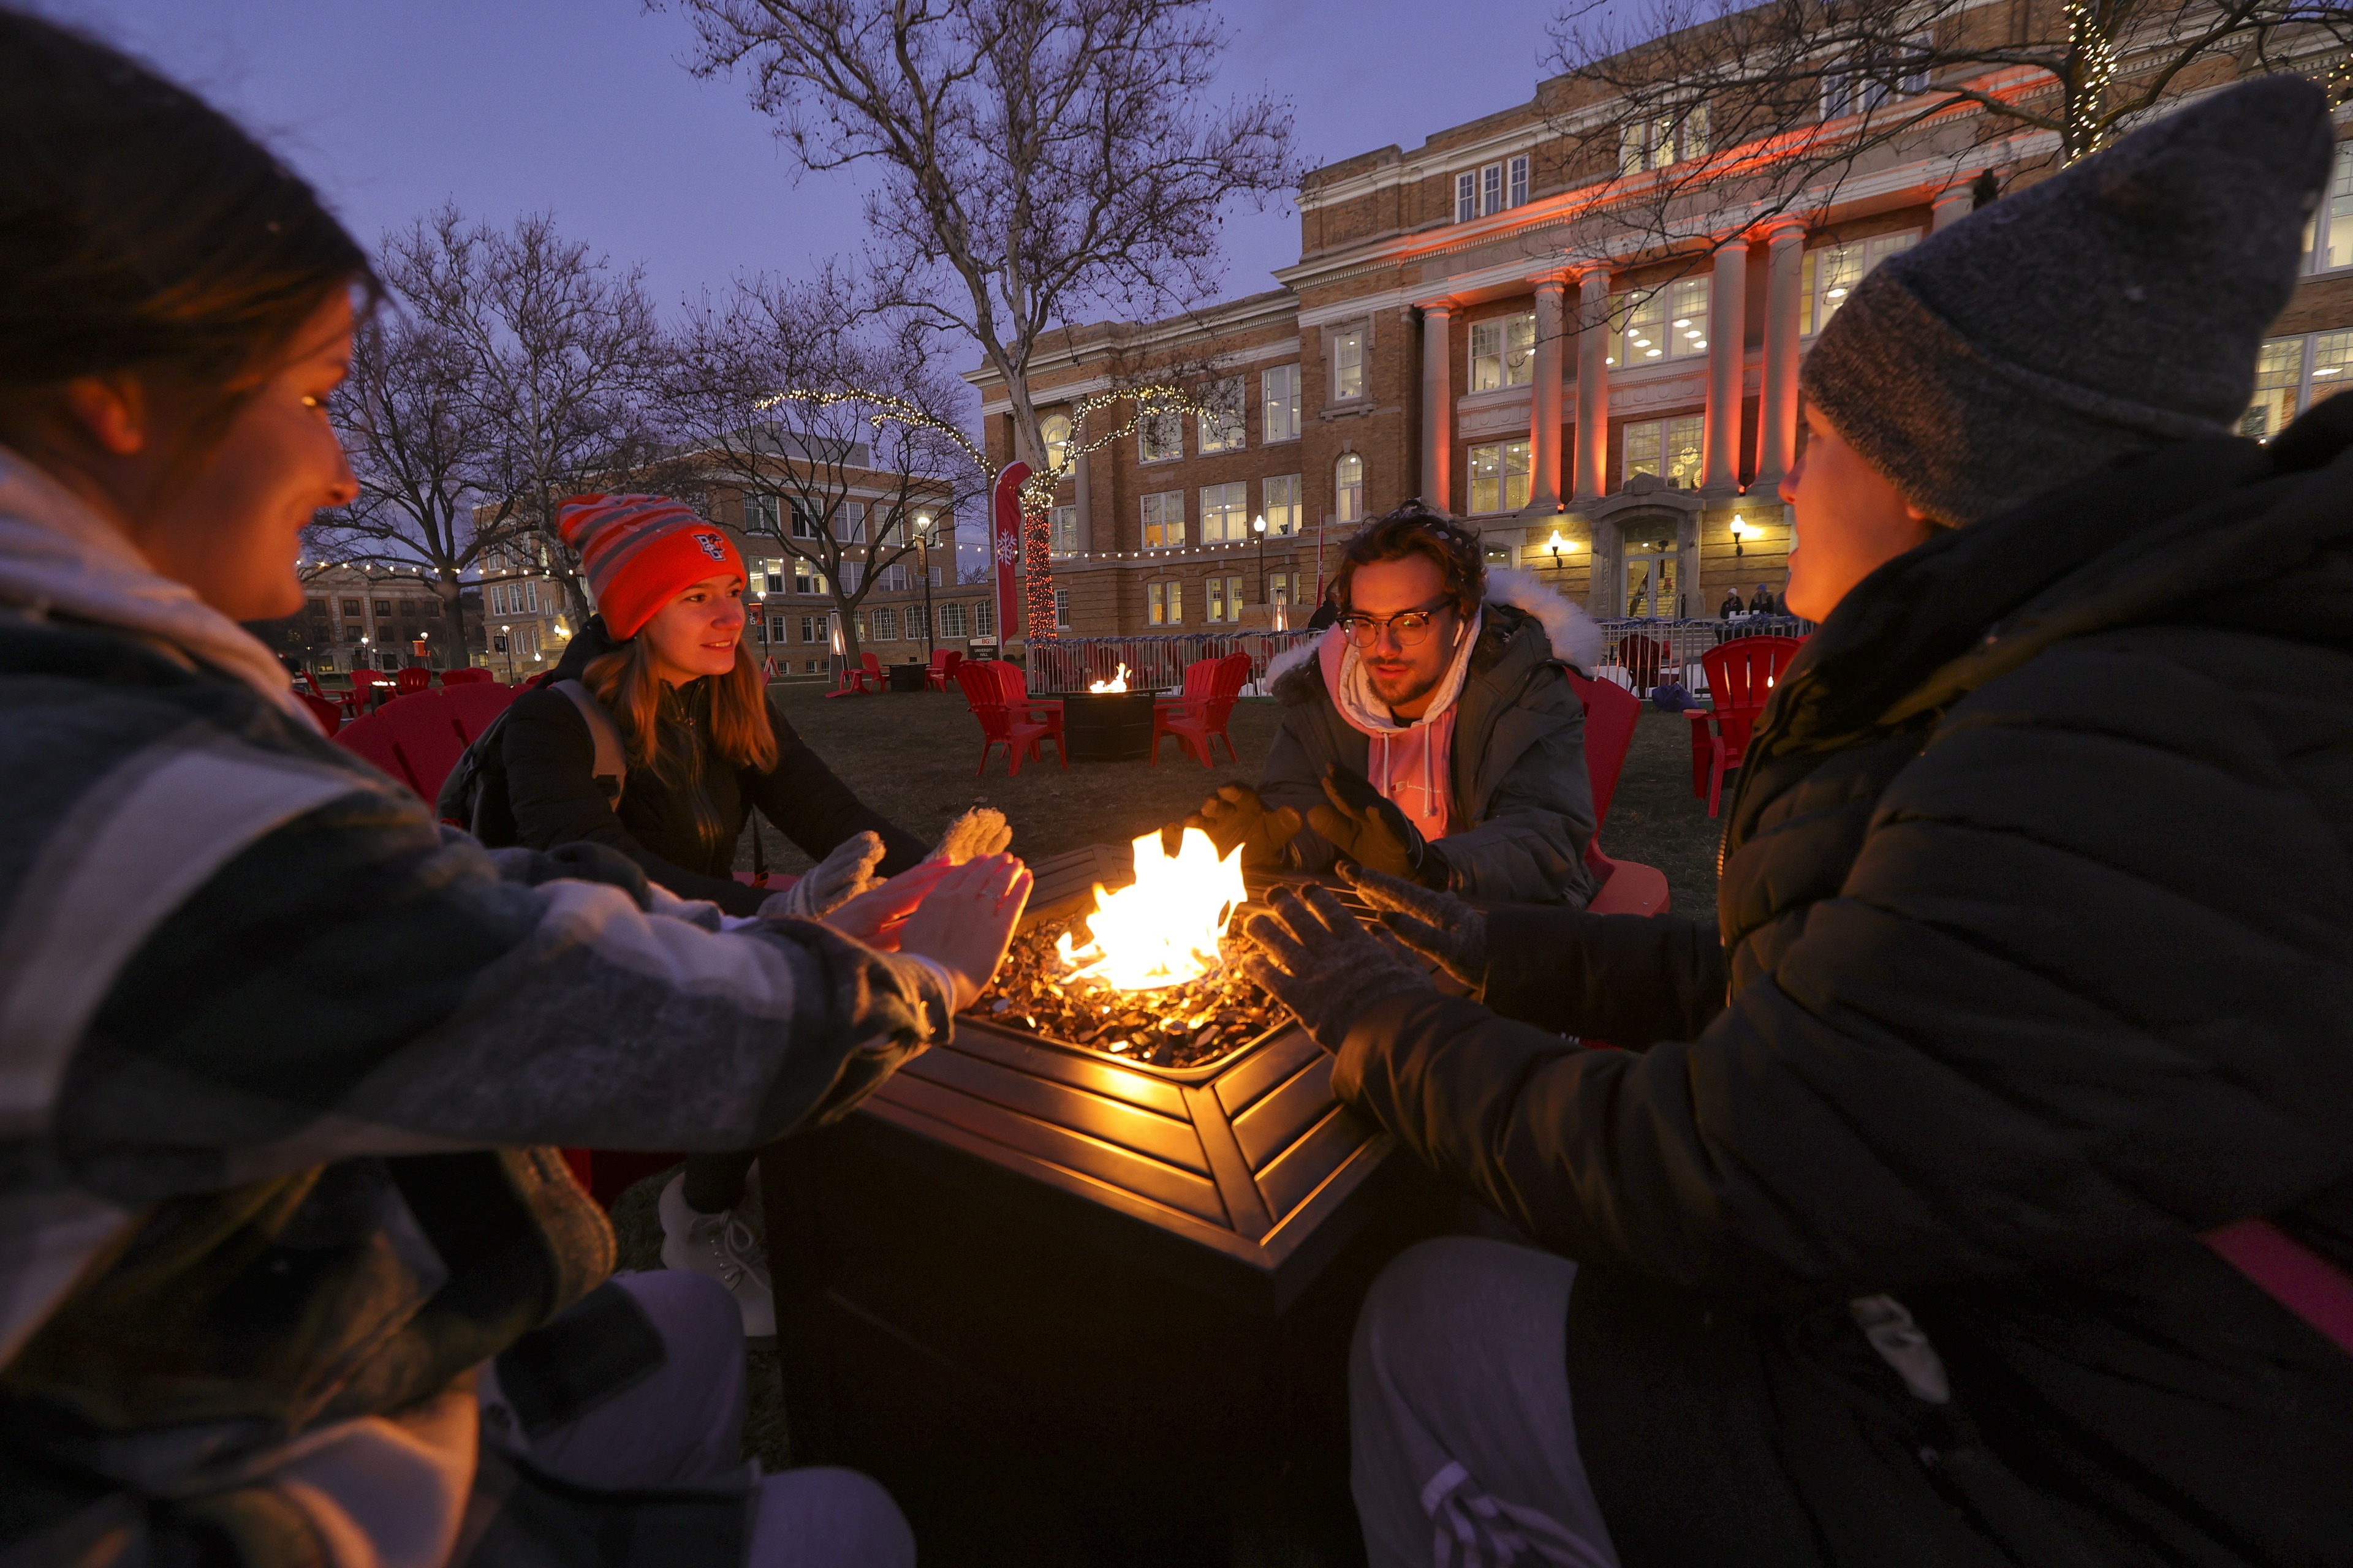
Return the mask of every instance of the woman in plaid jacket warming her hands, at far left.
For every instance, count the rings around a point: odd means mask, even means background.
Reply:
[[[993,858],[722,929],[626,856],[485,853],[238,621],[353,494],[367,261],[195,96],[0,9],[0,1556],[911,1563],[739,1467],[736,1309],[607,1281],[553,1147],[741,1150],[939,1039]],[[852,940],[904,917],[899,950]]]

